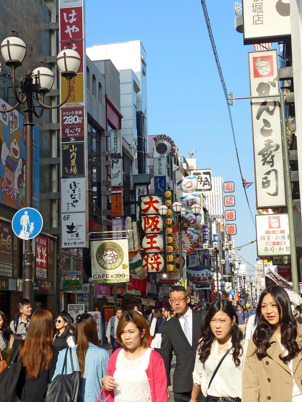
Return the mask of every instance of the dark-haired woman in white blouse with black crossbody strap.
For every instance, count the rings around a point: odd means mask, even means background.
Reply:
[[[198,400],[200,391],[207,402],[240,402],[246,345],[232,303],[216,300],[201,324],[190,402]]]

